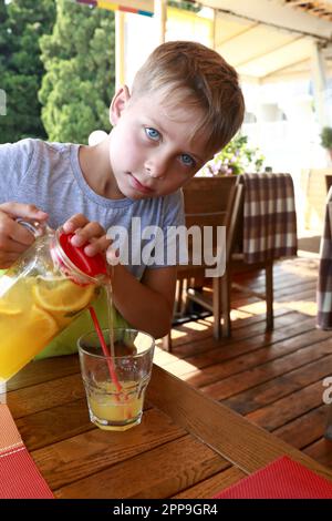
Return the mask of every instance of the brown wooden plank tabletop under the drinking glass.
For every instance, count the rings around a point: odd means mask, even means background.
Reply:
[[[8,390],[58,498],[211,498],[283,454],[332,480],[332,470],[158,366],[142,425],[125,432],[90,422],[76,356],[31,362]]]

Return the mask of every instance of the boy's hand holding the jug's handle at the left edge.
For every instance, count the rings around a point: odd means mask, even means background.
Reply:
[[[48,214],[32,204],[0,204],[0,268],[2,269],[10,267],[34,242],[32,233],[18,223],[18,218],[44,222]]]

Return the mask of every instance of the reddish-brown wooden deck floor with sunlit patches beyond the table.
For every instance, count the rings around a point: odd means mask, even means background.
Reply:
[[[317,277],[317,259],[276,264],[272,333],[264,330],[264,303],[238,293],[231,339],[214,339],[210,317],[187,323],[173,329],[173,354],[158,349],[156,362],[332,468],[322,399],[332,331],[315,328]],[[263,288],[262,274],[246,282]]]

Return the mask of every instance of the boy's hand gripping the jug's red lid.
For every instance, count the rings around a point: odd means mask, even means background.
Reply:
[[[105,253],[112,242],[106,237],[106,233],[100,223],[96,221],[90,222],[82,214],[73,215],[62,227],[66,234],[75,234],[71,239],[74,246],[83,246],[83,244],[89,243],[84,248],[84,253],[90,257],[97,253]]]

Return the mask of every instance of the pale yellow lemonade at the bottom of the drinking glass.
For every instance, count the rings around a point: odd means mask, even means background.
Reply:
[[[86,386],[87,402],[92,420],[101,429],[126,430],[141,421],[144,392],[139,382],[121,381],[122,392],[112,382],[101,388]]]

